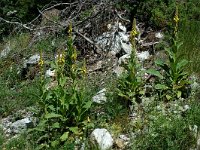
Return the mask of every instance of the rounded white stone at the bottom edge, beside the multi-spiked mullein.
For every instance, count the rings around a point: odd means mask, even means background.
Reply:
[[[108,150],[113,146],[113,138],[106,129],[95,129],[91,133],[91,140],[98,144],[100,150]]]

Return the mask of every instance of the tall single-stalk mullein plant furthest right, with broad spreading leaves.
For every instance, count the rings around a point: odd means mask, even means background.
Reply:
[[[162,69],[162,72],[154,69],[147,71],[158,77],[155,89],[158,91],[159,99],[167,101],[188,97],[188,85],[190,84],[188,73],[185,71],[185,66],[188,64],[188,61],[178,55],[178,50],[183,44],[178,41],[178,8],[176,8],[173,20],[174,32],[171,46],[165,48],[168,60],[163,61],[159,59],[155,61],[156,65]]]

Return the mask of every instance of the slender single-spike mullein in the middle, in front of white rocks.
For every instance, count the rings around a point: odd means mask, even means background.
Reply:
[[[118,95],[126,100],[125,104],[128,106],[134,103],[141,103],[141,97],[144,95],[141,65],[136,58],[135,36],[137,34],[136,19],[134,19],[130,34],[132,52],[128,63],[123,64],[125,72],[120,77],[118,84]]]

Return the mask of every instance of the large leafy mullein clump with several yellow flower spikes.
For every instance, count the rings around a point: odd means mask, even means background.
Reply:
[[[69,28],[67,50],[58,51],[51,67],[56,70],[57,85],[47,88],[43,77],[44,61],[40,57],[41,94],[38,100],[40,112],[38,125],[31,131],[41,135],[40,148],[57,147],[60,144],[74,142],[74,137],[87,135],[87,129],[93,126],[89,118],[92,105],[85,86],[81,84],[80,75],[86,77],[84,61],[81,68],[76,65],[77,52],[73,46],[72,25]]]

